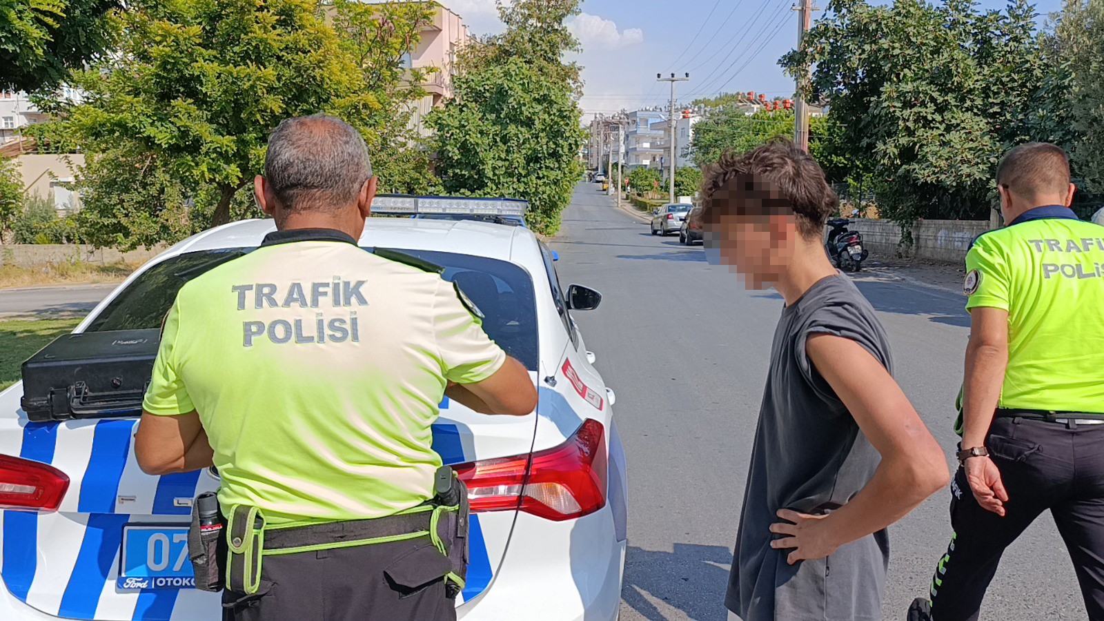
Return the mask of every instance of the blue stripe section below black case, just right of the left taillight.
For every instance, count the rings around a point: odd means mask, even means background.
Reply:
[[[99,421],[92,439],[88,470],[81,480],[79,513],[115,513],[119,480],[130,452],[132,420]]]

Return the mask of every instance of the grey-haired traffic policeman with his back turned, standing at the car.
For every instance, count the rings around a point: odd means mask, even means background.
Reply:
[[[166,319],[135,451],[150,474],[217,467],[226,619],[455,619],[428,511],[437,404],[535,407],[458,290],[358,248],[375,187],[355,129],[285,120],[255,181],[277,231]]]

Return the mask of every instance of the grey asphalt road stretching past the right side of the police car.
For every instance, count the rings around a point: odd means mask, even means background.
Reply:
[[[582,183],[564,213],[561,281],[593,286],[602,306],[575,318],[614,407],[628,459],[629,549],[622,619],[724,621],[724,590],[782,310],[747,292],[701,246],[654,238],[648,224]],[[862,273],[893,347],[898,380],[947,451],[968,331],[964,298]],[[785,455],[777,455],[784,460]],[[927,591],[951,537],[944,490],[891,528],[884,618],[903,620]],[[1005,555],[983,619],[1085,619],[1073,568],[1049,514]]]

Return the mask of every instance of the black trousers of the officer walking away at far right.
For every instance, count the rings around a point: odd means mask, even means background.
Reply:
[[[1104,621],[1104,424],[998,418],[986,445],[1008,491],[1006,515],[981,508],[958,469],[951,484],[954,536],[932,583],[931,619],[976,621],[1005,548],[1050,509],[1089,618]]]

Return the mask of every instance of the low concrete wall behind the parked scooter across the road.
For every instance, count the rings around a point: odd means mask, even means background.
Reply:
[[[989,230],[988,220],[921,220],[912,230],[913,245],[898,249],[901,243],[901,227],[890,220],[851,221],[852,231],[862,233],[862,241],[872,255],[904,256],[962,263],[974,238]]]

